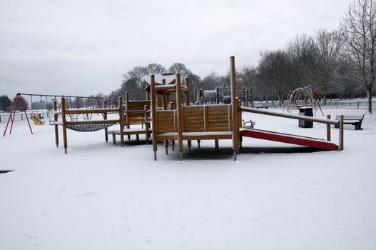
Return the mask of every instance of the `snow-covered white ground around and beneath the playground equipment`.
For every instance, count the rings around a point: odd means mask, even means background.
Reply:
[[[325,115],[363,114],[325,109]],[[256,128],[325,138],[325,125],[243,114]],[[344,151],[240,154],[193,142],[106,144],[103,131],[17,122],[0,139],[0,249],[376,249],[376,116],[345,126]],[[5,124],[0,124],[3,133]],[[337,143],[338,130],[332,129]],[[291,147],[245,138],[243,146]],[[171,149],[171,147],[170,147]],[[247,151],[247,149],[245,149]]]

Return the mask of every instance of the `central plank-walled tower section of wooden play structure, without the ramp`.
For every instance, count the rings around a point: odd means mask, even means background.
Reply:
[[[168,140],[178,141],[180,159],[183,159],[183,141],[188,141],[188,148],[192,140],[233,140],[233,156],[236,159],[239,146],[240,116],[239,102],[235,95],[235,59],[230,58],[231,66],[231,91],[233,99],[231,104],[198,105],[190,106],[189,80],[185,79],[185,85],[181,85],[181,76],[176,74],[173,84],[156,85],[155,76],[151,76],[151,116],[153,130],[154,160],[157,159],[157,143],[165,141],[166,153]],[[158,109],[156,94],[158,91],[176,93],[176,109]],[[186,93],[185,104],[182,96]]]

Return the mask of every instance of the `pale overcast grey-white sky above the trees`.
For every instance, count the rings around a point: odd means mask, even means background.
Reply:
[[[257,64],[297,34],[337,29],[350,0],[0,0],[0,94],[90,95],[175,62],[204,77]]]

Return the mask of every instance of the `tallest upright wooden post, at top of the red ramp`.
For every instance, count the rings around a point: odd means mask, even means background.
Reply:
[[[234,161],[236,161],[236,154],[238,154],[239,144],[239,126],[238,126],[238,101],[236,99],[236,81],[235,81],[235,57],[230,57],[230,70],[231,70],[231,105],[233,107],[233,154]]]

